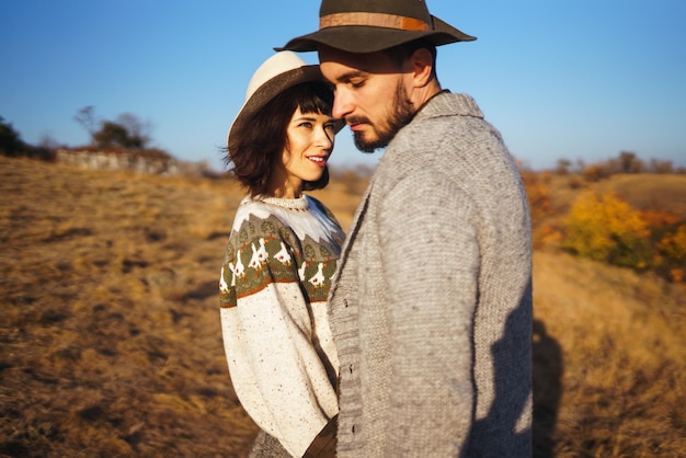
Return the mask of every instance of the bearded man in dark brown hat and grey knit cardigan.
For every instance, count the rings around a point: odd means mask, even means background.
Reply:
[[[500,134],[443,91],[435,46],[471,41],[418,0],[323,0],[333,116],[387,147],[330,300],[339,457],[530,456],[531,248]]]

